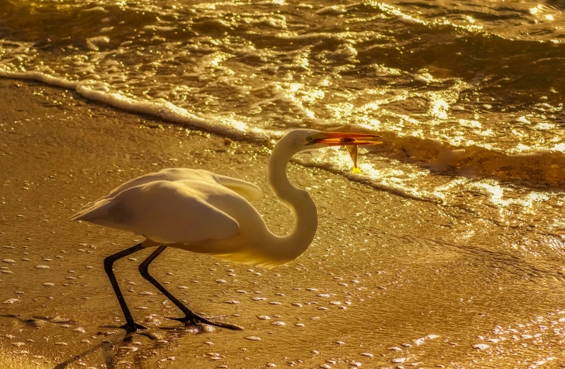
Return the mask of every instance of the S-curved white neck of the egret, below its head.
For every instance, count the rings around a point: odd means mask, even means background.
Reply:
[[[296,153],[280,143],[273,148],[269,159],[269,187],[274,195],[294,214],[294,229],[284,237],[277,237],[281,258],[294,260],[306,251],[316,236],[318,209],[307,191],[292,186],[286,176],[286,165]]]

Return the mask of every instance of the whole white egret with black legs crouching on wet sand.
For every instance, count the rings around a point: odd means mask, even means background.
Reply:
[[[299,151],[380,143],[376,138],[379,136],[308,129],[296,129],[281,138],[269,159],[269,186],[294,213],[296,223],[288,236],[271,233],[259,212],[249,203],[261,196],[259,187],[201,169],[169,168],[146,174],[122,184],[108,196],[76,213],[71,220],[130,231],[146,238],[138,245],[104,259],[104,270],[126,318],[126,324],[121,328],[132,332],[145,327],[131,316],[112,270],[114,261],[143,248],[157,246],[141,263],[139,271],[183,311],[184,318],[176,320],[241,329],[238,325],[214,322],[193,313],[149,274],[149,263],[169,246],[266,267],[298,258],[316,235],[318,211],[308,192],[292,186],[286,176],[286,164]]]

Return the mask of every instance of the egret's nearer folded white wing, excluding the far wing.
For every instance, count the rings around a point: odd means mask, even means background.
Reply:
[[[101,226],[141,234],[156,243],[199,243],[231,238],[239,223],[212,206],[233,201],[230,191],[204,181],[154,181],[101,198],[76,214]]]

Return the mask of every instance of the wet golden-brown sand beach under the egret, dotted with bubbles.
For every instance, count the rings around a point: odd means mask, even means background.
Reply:
[[[268,149],[224,143],[41,84],[0,79],[1,368],[505,368],[564,360],[559,263],[508,229],[316,168],[289,177],[319,206],[303,256],[264,270],[167,250],[151,272],[196,312],[246,329],[184,327],[146,282],[142,251],[114,266],[144,334],[124,340],[105,256],[139,237],[67,218],[119,183],[172,166],[257,183],[271,230]]]

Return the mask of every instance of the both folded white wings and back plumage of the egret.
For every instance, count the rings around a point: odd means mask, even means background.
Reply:
[[[249,206],[246,200],[260,196],[253,183],[169,168],[122,184],[73,220],[141,234],[159,244],[199,243],[236,236],[239,223],[226,210]]]

